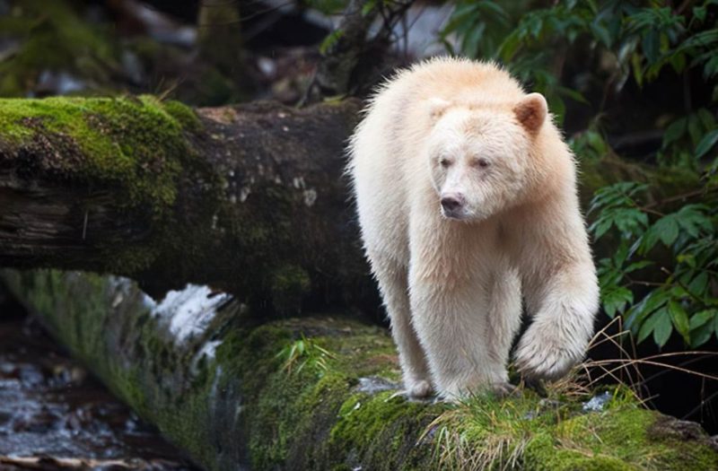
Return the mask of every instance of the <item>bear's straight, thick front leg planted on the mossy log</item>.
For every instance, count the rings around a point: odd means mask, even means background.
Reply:
[[[482,389],[508,392],[503,359],[492,354],[504,345],[488,338],[486,290],[477,283],[446,290],[442,283],[413,280],[411,307],[442,397],[458,400]]]

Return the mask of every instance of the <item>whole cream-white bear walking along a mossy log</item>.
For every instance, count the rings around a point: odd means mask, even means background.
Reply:
[[[373,97],[349,145],[366,256],[407,393],[504,392],[582,359],[599,288],[574,158],[538,93],[494,64],[435,58]]]

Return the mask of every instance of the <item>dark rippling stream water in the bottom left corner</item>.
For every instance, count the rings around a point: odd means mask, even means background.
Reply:
[[[25,469],[200,468],[0,292],[0,471]]]

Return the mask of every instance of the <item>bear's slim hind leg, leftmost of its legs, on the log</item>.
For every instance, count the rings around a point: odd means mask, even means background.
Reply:
[[[397,345],[404,388],[411,397],[426,397],[432,392],[432,384],[424,349],[419,345],[411,322],[407,269],[385,257],[370,255],[369,258],[389,314],[391,336]]]

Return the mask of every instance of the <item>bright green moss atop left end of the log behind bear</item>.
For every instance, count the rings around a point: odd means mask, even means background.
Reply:
[[[182,122],[149,96],[0,100],[0,138],[11,152],[28,150],[16,157],[21,167],[118,186],[127,205],[149,204],[155,214],[174,202],[191,156]],[[55,153],[31,154],[38,147]]]

